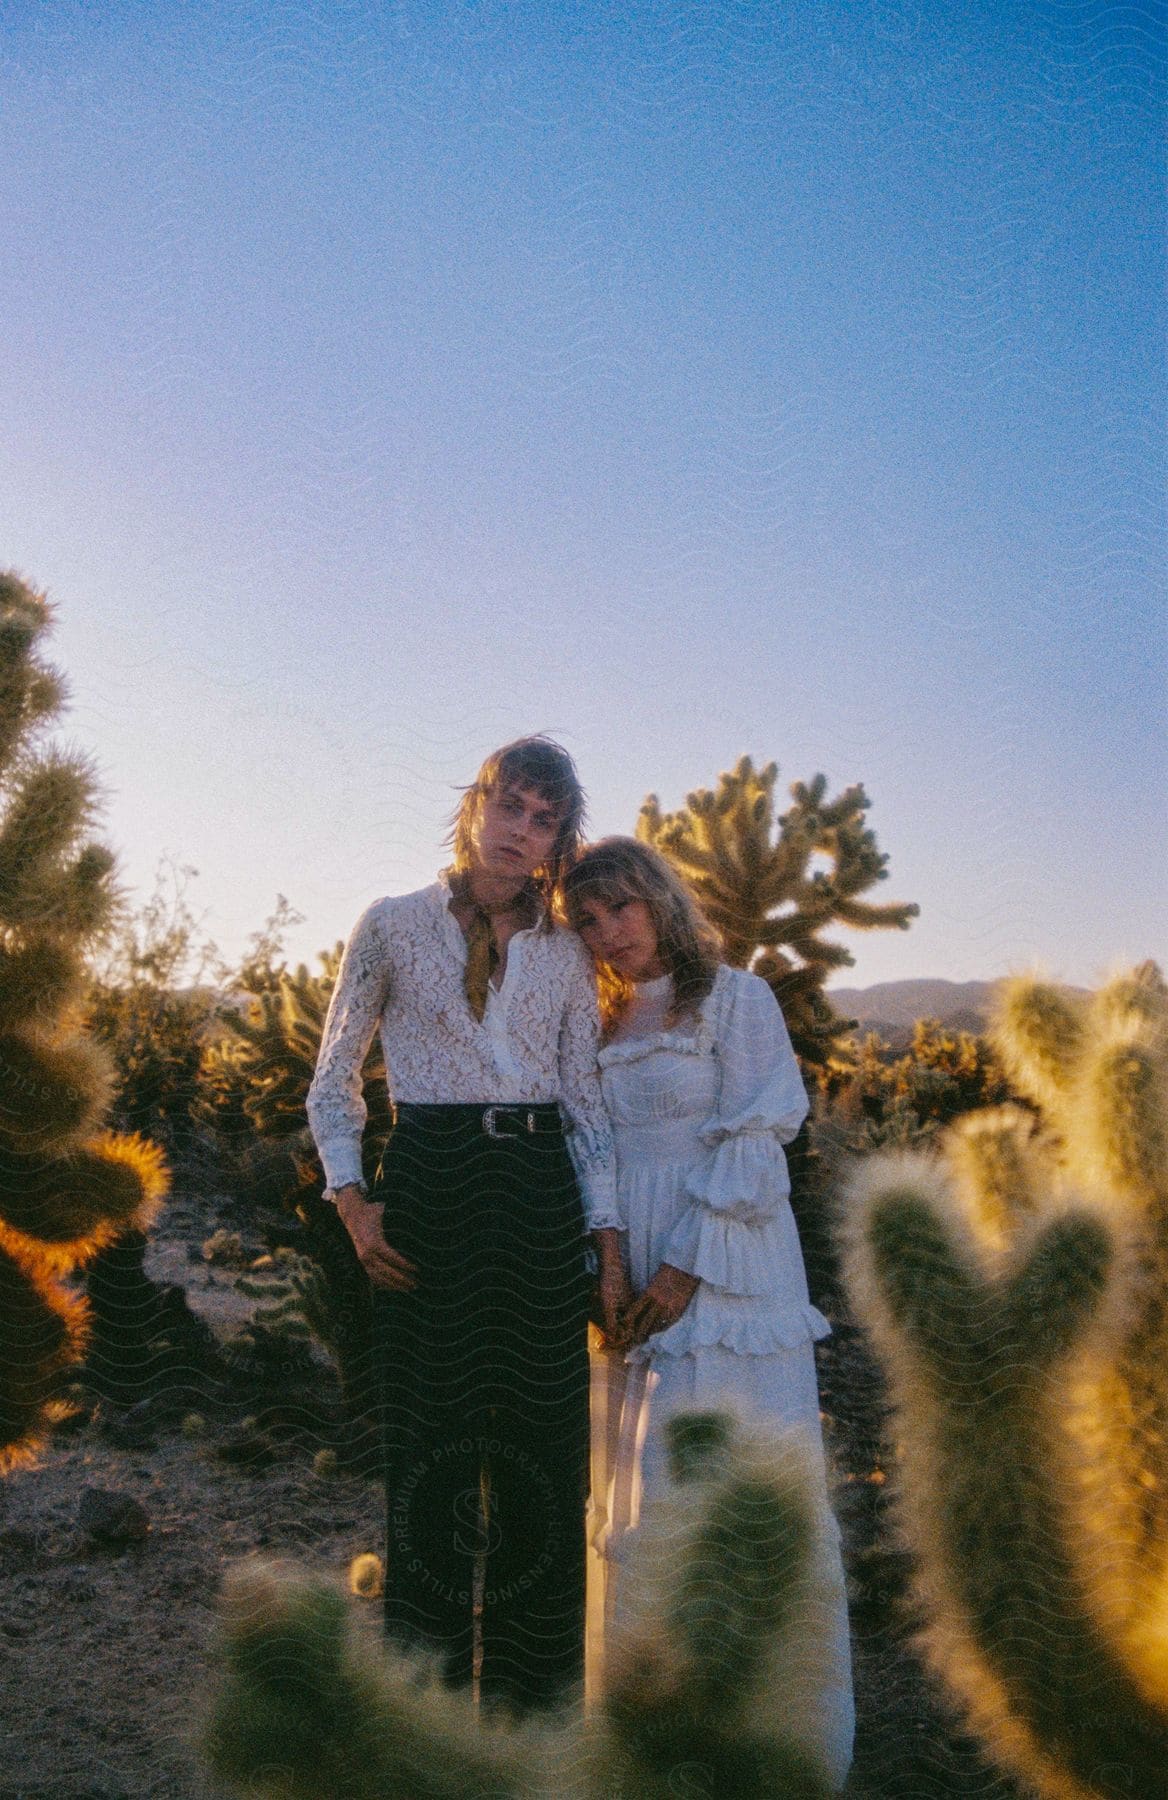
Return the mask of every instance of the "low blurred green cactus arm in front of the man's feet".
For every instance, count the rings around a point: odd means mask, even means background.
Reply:
[[[223,1600],[223,1678],[203,1746],[220,1780],[268,1800],[509,1800],[527,1741],[481,1732],[470,1701],[349,1625],[346,1598],[243,1564]]]

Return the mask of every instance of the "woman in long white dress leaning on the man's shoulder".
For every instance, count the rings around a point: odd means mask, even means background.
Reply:
[[[594,1546],[608,1577],[641,1501],[666,1481],[664,1420],[731,1404],[810,1444],[833,1656],[815,1748],[842,1786],[853,1699],[839,1528],[830,1510],[812,1307],[783,1143],[808,1102],[774,994],[729,968],[669,864],[608,837],[563,882],[594,956],[601,1084],[617,1147],[621,1231],[597,1233],[610,1355],[594,1368]],[[623,1354],[621,1354],[623,1352]],[[612,1616],[612,1579],[605,1582]]]

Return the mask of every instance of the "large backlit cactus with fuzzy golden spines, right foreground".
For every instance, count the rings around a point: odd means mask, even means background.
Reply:
[[[1004,985],[1020,1107],[871,1157],[848,1285],[898,1409],[932,1665],[1058,1800],[1168,1795],[1168,992]]]

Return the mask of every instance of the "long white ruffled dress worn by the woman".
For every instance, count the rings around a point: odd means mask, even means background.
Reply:
[[[662,1262],[700,1285],[668,1330],[628,1355],[592,1361],[590,1661],[596,1669],[612,1622],[623,1541],[642,1503],[668,1487],[668,1415],[729,1402],[794,1427],[819,1471],[819,1541],[835,1606],[817,1748],[842,1786],[855,1724],[851,1658],[813,1352],[831,1327],[808,1300],[783,1156],[806,1116],[806,1091],[761,977],[722,965],[698,1017],[666,1030],[669,1001],[668,976],[637,985],[623,1030],[599,1053],[601,1085],[633,1292]]]

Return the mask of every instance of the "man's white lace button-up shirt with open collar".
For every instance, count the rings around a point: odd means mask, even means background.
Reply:
[[[482,1022],[463,986],[466,938],[445,875],[374,900],[353,927],[324,1021],[308,1123],[333,1188],[362,1174],[362,1064],[382,1033],[403,1103],[558,1100],[590,1229],[617,1224],[614,1148],[596,1051],[592,959],[572,931],[517,931]]]

